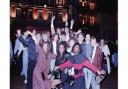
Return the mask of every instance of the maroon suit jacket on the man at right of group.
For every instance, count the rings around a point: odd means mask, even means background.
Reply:
[[[102,69],[102,63],[103,62],[103,57],[102,57],[102,52],[100,50],[100,48],[97,46],[96,47],[96,52],[95,52],[95,56],[94,59],[92,61],[92,64],[98,69],[101,70]]]

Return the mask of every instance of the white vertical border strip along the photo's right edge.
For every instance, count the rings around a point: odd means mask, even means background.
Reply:
[[[128,89],[128,0],[118,0],[118,89]]]

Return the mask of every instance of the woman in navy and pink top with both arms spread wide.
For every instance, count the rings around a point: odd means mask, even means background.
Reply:
[[[81,46],[79,43],[75,43],[73,46],[74,55],[71,60],[59,65],[56,69],[61,70],[69,67],[74,67],[75,74],[72,76],[75,78],[74,84],[71,89],[85,89],[85,78],[83,73],[83,67],[91,69],[94,73],[100,74],[95,66],[93,66],[81,53]],[[53,86],[57,84],[55,81]]]

